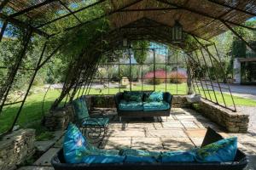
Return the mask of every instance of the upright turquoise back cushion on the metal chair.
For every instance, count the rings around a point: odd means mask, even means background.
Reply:
[[[79,122],[83,121],[84,118],[89,117],[89,111],[84,99],[78,98],[73,100],[73,108]]]

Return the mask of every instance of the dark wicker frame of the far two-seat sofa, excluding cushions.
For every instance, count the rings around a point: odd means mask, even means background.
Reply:
[[[143,103],[145,102],[146,96],[152,94],[153,91],[144,91],[143,92]],[[117,112],[119,119],[121,121],[122,117],[154,117],[154,116],[170,116],[172,108],[172,94],[166,92],[163,93],[163,101],[169,105],[168,109],[164,110],[154,110],[154,111],[145,111],[143,109],[134,110],[122,110],[119,107],[119,104],[124,100],[124,93],[118,93],[115,95],[115,105],[117,107]]]

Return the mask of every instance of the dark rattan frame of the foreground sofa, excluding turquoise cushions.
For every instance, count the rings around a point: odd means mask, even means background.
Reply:
[[[201,146],[212,144],[223,139],[211,128],[207,129],[207,134]],[[239,170],[247,166],[247,157],[237,150],[235,161],[232,162],[173,162],[173,163],[118,163],[118,164],[67,164],[65,163],[63,150],[60,150],[51,160],[55,170]]]

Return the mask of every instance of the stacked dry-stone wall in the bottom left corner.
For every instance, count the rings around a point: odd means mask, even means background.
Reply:
[[[35,153],[35,130],[20,129],[0,139],[0,170],[12,170]]]

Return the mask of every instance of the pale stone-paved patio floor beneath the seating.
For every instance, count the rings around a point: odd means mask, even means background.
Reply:
[[[224,133],[224,129],[189,109],[172,109],[172,116],[147,119],[123,119],[119,122],[113,118],[109,125],[108,135],[102,148],[119,149],[130,147],[143,150],[188,150],[200,146],[207,132],[212,127],[224,137],[237,136],[239,148],[247,153],[249,165],[247,169],[256,169],[256,134]],[[49,170],[51,157],[61,148],[63,137],[52,144],[51,148],[41,156],[33,166],[21,167],[20,170]]]

